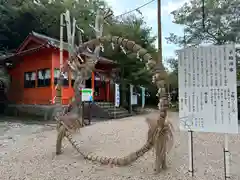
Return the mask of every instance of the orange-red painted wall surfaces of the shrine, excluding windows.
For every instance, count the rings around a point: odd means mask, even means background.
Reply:
[[[22,57],[22,60],[16,64],[16,67],[9,69],[9,74],[12,79],[10,89],[8,91],[8,99],[16,104],[52,104],[56,96],[54,85],[54,69],[60,67],[60,52],[58,49],[45,48],[38,52],[31,53]],[[68,59],[68,53],[64,51],[63,62]],[[48,68],[51,70],[51,85],[47,87],[37,87],[37,81],[34,88],[24,88],[24,73],[29,71],[36,72],[39,69]],[[111,69],[107,65],[98,64],[97,69],[107,70]],[[106,69],[105,69],[106,68]],[[109,100],[114,99],[114,89],[107,89],[109,82],[105,85],[101,81],[95,81],[95,87],[99,85],[99,96],[95,96],[96,101],[106,101],[107,93],[109,93]],[[74,90],[71,86],[71,74],[69,74],[69,86],[62,88],[62,103],[68,104],[71,97],[74,96]]]

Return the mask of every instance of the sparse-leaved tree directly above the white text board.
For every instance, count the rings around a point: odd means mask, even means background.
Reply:
[[[173,22],[184,26],[185,37],[171,33],[166,38],[169,43],[183,46],[240,42],[240,0],[204,0],[204,4],[204,15],[202,0],[192,0],[171,13]]]

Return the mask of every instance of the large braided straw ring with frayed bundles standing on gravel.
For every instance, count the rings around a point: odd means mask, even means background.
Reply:
[[[102,20],[105,19],[106,14],[104,14],[102,17]],[[157,96],[159,97],[159,116],[155,119],[146,119],[146,122],[149,125],[146,143],[139,150],[132,152],[128,156],[122,158],[100,157],[94,154],[83,152],[81,150],[80,144],[77,143],[72,137],[72,133],[76,132],[84,126],[83,120],[81,119],[82,116],[79,115],[78,112],[79,109],[81,109],[81,97],[79,97],[80,93],[78,93],[79,87],[84,87],[84,81],[90,77],[91,72],[95,68],[95,64],[98,60],[99,50],[101,49],[102,44],[106,42],[118,45],[122,49],[124,48],[124,51],[135,53],[144,62],[146,62],[146,68],[153,72],[152,80],[158,88]],[[63,108],[61,112],[55,115],[58,131],[56,154],[61,153],[62,139],[66,137],[72,146],[87,160],[97,161],[105,165],[109,164],[126,166],[137,160],[139,157],[143,156],[146,152],[154,147],[156,152],[156,173],[160,172],[161,168],[167,168],[166,153],[171,148],[168,148],[168,145],[172,145],[173,143],[173,128],[172,124],[166,121],[168,99],[167,94],[165,93],[164,84],[167,78],[167,74],[161,62],[157,64],[156,61],[152,59],[152,56],[147,52],[147,50],[133,41],[118,36],[101,36],[101,34],[98,34],[96,39],[81,43],[76,48],[76,51],[71,54],[68,62],[65,63],[64,67],[61,69],[63,73],[67,70],[70,70],[73,74],[75,74],[75,100],[71,105]],[[59,80],[59,84],[56,90],[57,94],[61,97],[60,83],[61,81]],[[76,109],[78,110],[76,111]]]

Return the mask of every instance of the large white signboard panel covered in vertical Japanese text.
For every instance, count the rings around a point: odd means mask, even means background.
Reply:
[[[234,45],[178,51],[181,130],[238,133]]]

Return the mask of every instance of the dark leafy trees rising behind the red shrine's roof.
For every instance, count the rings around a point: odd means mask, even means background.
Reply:
[[[77,24],[85,30],[84,39],[90,39],[96,9],[104,8],[102,0],[11,0],[0,1],[0,51],[14,51],[31,31],[59,38],[60,14],[69,9]],[[66,39],[66,33],[64,34]],[[13,41],[14,39],[14,41]]]

